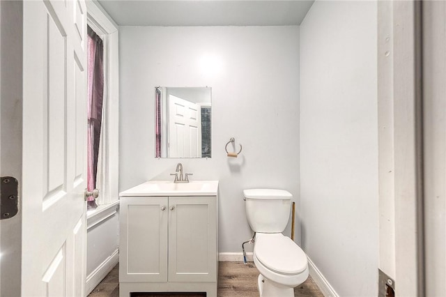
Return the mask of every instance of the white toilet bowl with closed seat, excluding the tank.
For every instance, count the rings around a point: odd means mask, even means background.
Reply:
[[[307,255],[283,234],[256,234],[253,257],[262,297],[294,296],[293,288],[307,280]]]

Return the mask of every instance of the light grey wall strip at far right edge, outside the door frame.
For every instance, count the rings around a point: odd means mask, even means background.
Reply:
[[[425,294],[446,296],[446,3],[424,2],[422,25]]]

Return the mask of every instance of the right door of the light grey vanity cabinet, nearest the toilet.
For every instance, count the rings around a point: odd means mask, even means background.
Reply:
[[[217,280],[216,197],[169,197],[169,282]]]

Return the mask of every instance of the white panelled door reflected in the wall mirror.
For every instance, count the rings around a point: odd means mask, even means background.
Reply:
[[[201,158],[201,110],[169,95],[169,157]]]

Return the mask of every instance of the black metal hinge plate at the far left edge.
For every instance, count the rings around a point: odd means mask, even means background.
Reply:
[[[19,211],[19,183],[13,176],[1,176],[0,181],[0,220],[13,218]]]

